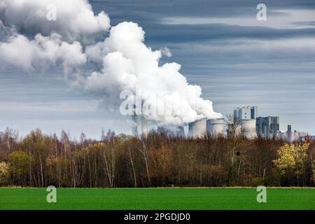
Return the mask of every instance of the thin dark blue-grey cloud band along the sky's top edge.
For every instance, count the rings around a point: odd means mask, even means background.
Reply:
[[[244,15],[244,13],[256,10],[258,3],[265,3],[269,8],[315,8],[312,0],[92,0],[90,1],[96,10],[124,10],[126,13],[146,12],[160,15],[190,15],[190,16],[227,16]]]

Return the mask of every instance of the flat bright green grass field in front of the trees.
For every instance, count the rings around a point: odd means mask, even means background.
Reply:
[[[315,209],[315,188],[58,188],[57,203],[45,188],[0,188],[0,209]]]

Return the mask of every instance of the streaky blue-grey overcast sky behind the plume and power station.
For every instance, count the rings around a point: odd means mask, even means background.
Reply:
[[[258,3],[267,21],[258,21]],[[152,49],[168,48],[189,83],[223,116],[258,106],[258,116],[279,116],[280,129],[315,134],[315,1],[90,1],[111,25],[137,22]],[[131,133],[127,118],[60,76],[0,69],[0,130],[21,135],[41,128],[99,139],[102,128]]]

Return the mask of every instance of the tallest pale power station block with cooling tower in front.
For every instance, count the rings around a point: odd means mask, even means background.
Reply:
[[[256,118],[258,115],[257,106],[246,106],[234,110],[234,118],[241,124],[241,132],[248,139],[257,137]]]

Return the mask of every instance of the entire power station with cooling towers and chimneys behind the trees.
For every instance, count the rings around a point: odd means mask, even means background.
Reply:
[[[133,118],[134,123],[137,123],[136,118]],[[188,131],[186,127],[176,127],[174,130],[169,130],[167,127],[158,127],[158,132],[165,132],[166,134],[179,137],[201,138],[205,134],[212,136],[225,136],[229,134],[229,124],[231,120],[224,118],[208,119],[203,118],[193,123],[188,124]],[[288,125],[286,132],[280,131],[280,119],[277,116],[258,117],[257,106],[246,106],[237,108],[233,111],[232,123],[234,129],[239,134],[244,135],[248,139],[255,137],[263,137],[266,139],[283,139],[284,141],[293,142],[303,140],[308,136],[307,132],[292,131],[291,125]],[[187,126],[187,125],[186,125]],[[146,120],[141,118],[142,134],[147,134]],[[137,125],[133,126],[132,134],[138,135]]]

